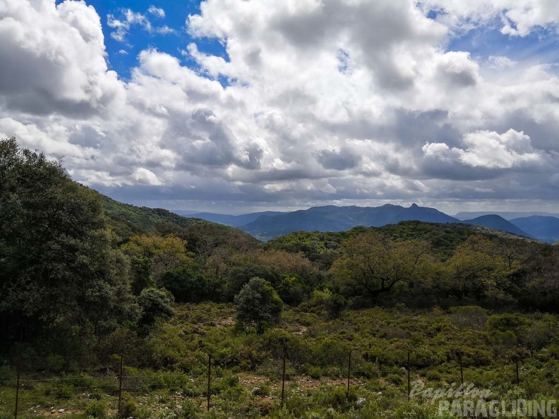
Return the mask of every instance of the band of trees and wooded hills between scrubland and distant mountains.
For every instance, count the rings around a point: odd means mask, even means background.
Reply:
[[[234,302],[255,277],[284,304],[330,317],[402,303],[557,310],[551,245],[419,221],[263,244],[185,220],[102,197],[44,154],[2,140],[2,350],[32,343],[79,353],[122,325],[143,336],[174,314],[173,302]]]

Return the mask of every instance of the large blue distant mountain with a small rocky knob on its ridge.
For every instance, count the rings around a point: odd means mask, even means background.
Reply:
[[[263,215],[239,228],[260,240],[269,240],[291,231],[346,231],[355,226],[379,227],[396,224],[399,221],[417,220],[434,223],[456,223],[458,219],[438,211],[438,209],[383,205],[382,207],[312,207],[299,211],[278,214],[274,217]]]

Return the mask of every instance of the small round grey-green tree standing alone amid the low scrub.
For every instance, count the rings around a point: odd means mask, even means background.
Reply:
[[[237,322],[242,327],[256,327],[258,333],[279,323],[283,302],[270,282],[254,277],[235,296]]]

